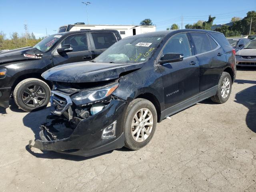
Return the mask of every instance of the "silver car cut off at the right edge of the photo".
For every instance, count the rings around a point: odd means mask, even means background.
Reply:
[[[256,39],[249,42],[243,49],[236,52],[237,66],[256,67]]]

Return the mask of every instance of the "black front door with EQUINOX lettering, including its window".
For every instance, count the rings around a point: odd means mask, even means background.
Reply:
[[[172,36],[162,50],[162,56],[168,52],[184,54],[183,61],[158,65],[162,74],[165,109],[199,92],[200,68],[190,47],[187,34],[182,33]]]

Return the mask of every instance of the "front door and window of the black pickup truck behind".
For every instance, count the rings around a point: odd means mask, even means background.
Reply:
[[[89,61],[94,58],[94,52],[89,50],[87,34],[74,34],[66,37],[57,48],[61,48],[64,44],[71,44],[73,51],[58,54],[55,50],[52,56],[54,66],[66,63]]]

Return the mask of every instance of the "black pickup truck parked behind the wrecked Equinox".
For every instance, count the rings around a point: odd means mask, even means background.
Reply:
[[[52,85],[41,77],[43,72],[92,60],[120,39],[116,30],[63,32],[48,36],[34,47],[0,53],[0,106],[9,107],[11,94],[24,111],[46,106]]]

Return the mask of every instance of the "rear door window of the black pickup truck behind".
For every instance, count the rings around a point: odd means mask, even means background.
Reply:
[[[116,42],[113,33],[92,33],[92,38],[96,49],[106,49]]]

